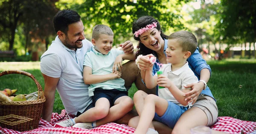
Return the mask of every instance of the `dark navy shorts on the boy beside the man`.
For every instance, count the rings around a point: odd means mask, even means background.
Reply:
[[[101,88],[96,88],[93,92],[93,105],[95,106],[96,101],[99,98],[107,98],[109,103],[110,103],[110,107],[114,106],[114,103],[116,101],[116,99],[122,97],[122,96],[128,96],[128,92],[127,91],[120,91],[118,89],[101,89]]]

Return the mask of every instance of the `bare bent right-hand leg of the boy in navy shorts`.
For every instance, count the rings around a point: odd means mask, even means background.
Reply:
[[[108,115],[96,121],[96,125],[100,126],[106,123],[116,121],[133,109],[134,102],[129,96],[118,98],[114,106],[109,109]]]

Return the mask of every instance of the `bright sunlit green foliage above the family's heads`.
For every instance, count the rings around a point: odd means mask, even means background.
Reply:
[[[183,28],[177,21],[184,0],[84,0],[70,8],[79,12],[87,28],[96,24],[107,24],[115,33],[115,41],[120,37],[132,37],[132,22],[143,15],[151,15],[166,29]],[[64,3],[62,3],[65,5]],[[123,41],[124,39],[122,39]]]

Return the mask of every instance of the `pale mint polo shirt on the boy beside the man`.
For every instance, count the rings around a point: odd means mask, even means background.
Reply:
[[[99,53],[94,48],[90,52],[87,52],[84,56],[84,66],[92,68],[93,75],[106,75],[112,73],[112,67],[116,57],[120,54],[124,54],[124,51],[118,49],[111,49],[106,55]],[[126,91],[125,81],[122,78],[115,78],[113,80],[104,81],[97,84],[90,84],[89,96],[93,96],[93,91],[96,88],[101,89],[118,89],[120,91]]]

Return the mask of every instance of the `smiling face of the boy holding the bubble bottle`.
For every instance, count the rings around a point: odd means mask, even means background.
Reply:
[[[168,40],[168,48],[166,49],[166,61],[172,64],[180,64],[186,61],[186,51],[182,51],[182,47],[177,39]]]

